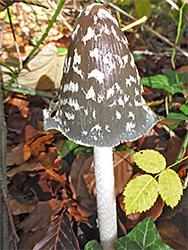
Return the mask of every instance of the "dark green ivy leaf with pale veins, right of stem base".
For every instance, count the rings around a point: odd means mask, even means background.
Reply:
[[[115,241],[116,250],[172,250],[164,244],[152,220],[147,217],[125,237]]]

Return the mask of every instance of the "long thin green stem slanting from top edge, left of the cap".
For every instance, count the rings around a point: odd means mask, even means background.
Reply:
[[[35,53],[35,51],[39,48],[39,45],[44,41],[44,39],[47,37],[49,30],[51,29],[53,23],[55,22],[63,4],[64,4],[65,0],[61,0],[48,27],[46,28],[46,31],[44,32],[44,34],[42,35],[41,39],[37,42],[37,44],[35,45],[35,47],[33,48],[33,50],[29,53],[29,55],[27,56],[27,58],[23,61],[23,66],[27,63],[27,61],[32,57],[32,55]],[[7,85],[7,89],[9,89],[12,85],[12,83],[14,82],[14,80],[16,79],[16,77],[18,76],[18,74],[20,73],[21,68],[19,67],[16,71],[16,73],[13,75],[12,79],[10,80],[10,82]],[[5,95],[7,94],[8,90],[5,91]]]

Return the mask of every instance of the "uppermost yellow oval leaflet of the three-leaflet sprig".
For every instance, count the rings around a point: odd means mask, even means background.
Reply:
[[[166,160],[162,154],[155,150],[140,150],[133,155],[133,160],[142,170],[156,174],[166,167]]]

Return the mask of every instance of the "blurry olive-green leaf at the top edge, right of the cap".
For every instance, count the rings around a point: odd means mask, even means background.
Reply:
[[[139,18],[143,16],[149,17],[151,15],[151,3],[149,0],[134,0],[136,14]]]

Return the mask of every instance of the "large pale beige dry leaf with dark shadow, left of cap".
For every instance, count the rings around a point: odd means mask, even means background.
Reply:
[[[36,54],[18,76],[18,84],[40,90],[59,88],[63,74],[64,55],[49,43]]]

